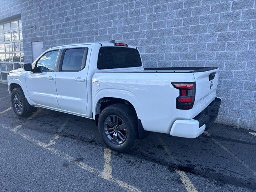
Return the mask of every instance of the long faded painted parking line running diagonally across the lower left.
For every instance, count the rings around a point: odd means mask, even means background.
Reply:
[[[74,157],[72,157],[72,156],[70,156],[70,155],[68,155],[68,154],[66,154],[66,153],[64,153],[64,152],[62,152],[62,151],[60,151],[58,149],[49,147],[48,144],[46,144],[44,142],[41,142],[41,141],[39,141],[37,139],[34,139],[34,138],[32,138],[32,137],[30,137],[30,136],[28,136],[26,134],[23,134],[23,133],[19,132],[18,128],[21,127],[20,125],[16,126],[14,129],[10,129],[7,126],[4,126],[4,125],[1,125],[1,126],[4,127],[7,130],[10,130],[11,132],[19,135],[19,136],[21,136],[22,138],[24,138],[24,139],[26,139],[26,140],[36,144],[37,146],[42,147],[42,148],[52,152],[53,154],[55,154],[55,155],[65,159],[65,160],[67,160],[68,162],[72,162],[72,163],[76,164],[77,166],[79,166],[83,170],[86,170],[88,172],[94,173],[97,176],[99,176],[100,178],[103,178],[104,180],[108,180],[108,181],[110,181],[110,182],[120,186],[120,188],[122,188],[122,189],[124,189],[126,191],[142,192],[142,190],[140,190],[140,189],[138,189],[138,188],[136,188],[136,187],[134,187],[134,186],[132,186],[130,184],[127,184],[127,183],[125,183],[125,182],[123,182],[121,180],[118,180],[118,179],[114,178],[112,175],[110,176],[110,178],[104,177],[104,176],[102,176],[102,172],[100,172],[99,170],[97,170],[95,168],[92,168],[92,167],[88,166],[86,163],[84,163],[84,162],[77,162],[77,161],[75,161],[76,158],[74,158]],[[106,157],[106,159],[108,159],[108,158],[109,158],[109,156]],[[110,162],[109,159],[107,160],[107,162],[108,163]]]

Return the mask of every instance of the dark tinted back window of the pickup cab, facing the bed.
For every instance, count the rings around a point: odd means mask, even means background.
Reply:
[[[114,69],[142,66],[138,50],[126,47],[101,47],[98,69]]]

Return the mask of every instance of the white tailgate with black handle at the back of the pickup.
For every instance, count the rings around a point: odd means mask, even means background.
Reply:
[[[196,81],[196,97],[192,108],[193,116],[199,114],[216,97],[219,69],[193,73]]]

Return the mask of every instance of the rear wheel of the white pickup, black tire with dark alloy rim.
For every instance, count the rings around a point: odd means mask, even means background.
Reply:
[[[134,110],[124,104],[104,108],[98,119],[98,129],[105,144],[117,152],[128,152],[138,140],[138,122]]]

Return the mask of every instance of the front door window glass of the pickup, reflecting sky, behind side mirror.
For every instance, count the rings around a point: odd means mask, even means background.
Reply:
[[[59,51],[50,51],[50,52],[47,52],[46,54],[44,54],[44,56],[42,56],[38,60],[37,67],[44,66],[44,67],[48,68],[49,70],[54,70],[58,52]]]

